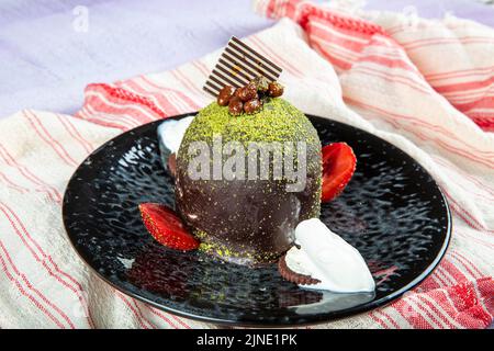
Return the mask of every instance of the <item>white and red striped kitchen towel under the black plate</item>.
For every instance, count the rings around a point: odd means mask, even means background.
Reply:
[[[494,31],[459,19],[418,19],[408,27],[400,14],[350,15],[302,1],[256,1],[256,9],[290,18],[245,38],[283,68],[285,98],[408,152],[440,184],[453,214],[451,245],[423,284],[389,306],[316,327],[491,325],[494,134],[485,131],[493,123],[494,55],[485,43],[494,42]],[[90,84],[76,116],[22,111],[0,122],[0,327],[215,327],[157,310],[103,283],[70,248],[60,201],[77,165],[105,140],[210,103],[202,87],[220,54],[171,71]]]

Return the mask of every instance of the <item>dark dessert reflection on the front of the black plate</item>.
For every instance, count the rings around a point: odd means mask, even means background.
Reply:
[[[242,301],[249,313],[276,307],[311,314],[353,307],[374,296],[373,293],[304,290],[283,280],[274,265],[250,269],[201,252],[172,251],[155,242],[144,248],[135,260],[123,260],[122,264],[128,281],[143,291],[177,303],[215,305],[217,309]]]

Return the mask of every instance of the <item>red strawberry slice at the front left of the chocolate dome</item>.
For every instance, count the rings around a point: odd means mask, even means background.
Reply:
[[[146,229],[158,242],[182,251],[199,247],[199,241],[187,231],[182,220],[168,206],[144,203],[139,205],[139,211]]]

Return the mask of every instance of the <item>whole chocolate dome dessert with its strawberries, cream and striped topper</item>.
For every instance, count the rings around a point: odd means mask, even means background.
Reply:
[[[146,229],[168,248],[198,249],[250,274],[278,267],[303,288],[374,291],[362,256],[319,220],[322,203],[340,195],[355,173],[352,148],[322,145],[310,118],[281,98],[281,68],[235,37],[225,52],[237,59],[228,64],[223,55],[204,84],[216,101],[158,126],[175,210],[139,204]],[[263,61],[257,69],[252,57]]]

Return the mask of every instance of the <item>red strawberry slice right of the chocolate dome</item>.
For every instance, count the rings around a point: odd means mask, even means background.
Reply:
[[[357,158],[347,143],[333,143],[323,147],[322,202],[328,202],[341,193],[353,176]]]

